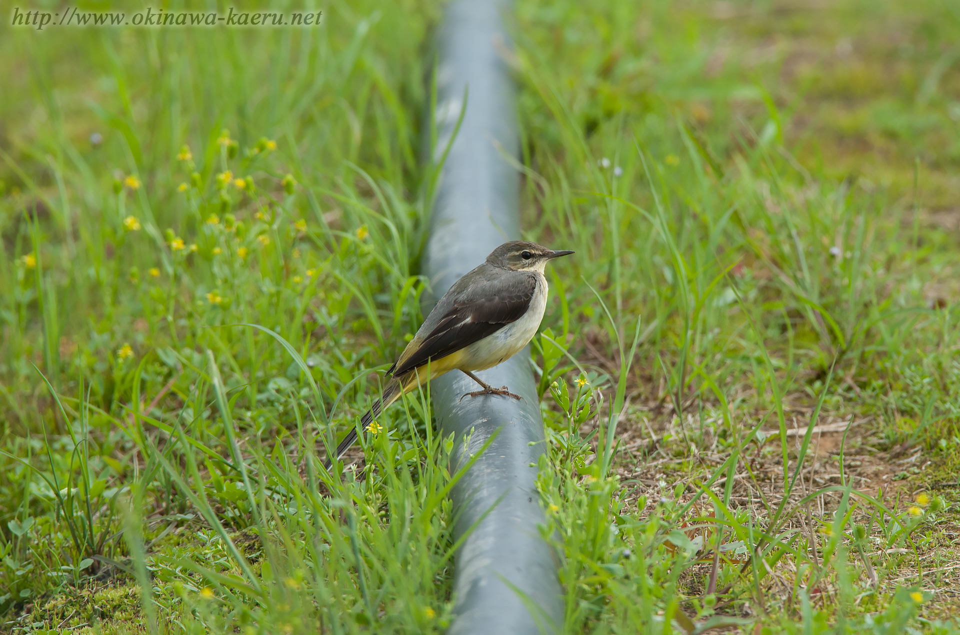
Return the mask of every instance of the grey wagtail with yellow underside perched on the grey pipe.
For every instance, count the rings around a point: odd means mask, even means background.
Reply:
[[[483,386],[483,390],[467,393],[470,397],[505,395],[520,399],[507,386],[494,388],[472,371],[496,366],[533,339],[546,308],[543,268],[552,258],[570,254],[573,252],[555,252],[525,240],[494,249],[486,262],[454,282],[433,307],[387,371],[390,380],[383,395],[361,417],[361,426],[368,429],[400,395],[454,369]],[[338,459],[356,438],[354,428],[337,446]],[[326,467],[330,467],[329,460]]]

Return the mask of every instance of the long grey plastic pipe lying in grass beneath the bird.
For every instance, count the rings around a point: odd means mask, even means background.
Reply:
[[[504,155],[518,156],[516,90],[502,60],[508,37],[500,12],[507,2],[453,0],[447,7],[437,68],[437,152],[466,112],[444,163],[424,255],[424,273],[439,298],[492,250],[520,237],[519,175]],[[462,373],[431,381],[444,435],[456,433],[455,460],[463,464],[499,430],[452,492],[459,539],[455,560],[452,635],[559,632],[564,603],[559,561],[540,537],[544,522],[534,479],[544,451],[543,422],[529,349],[481,372],[523,399],[481,396],[461,401],[476,384]],[[469,436],[464,452],[463,440]]]

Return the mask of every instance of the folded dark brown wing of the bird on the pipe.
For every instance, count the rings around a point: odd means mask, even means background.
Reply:
[[[490,293],[484,284],[469,297],[459,300],[444,313],[416,353],[391,369],[394,377],[413,370],[431,359],[440,359],[468,347],[523,317],[537,290],[537,279],[524,276],[507,292]],[[465,294],[466,295],[466,294]]]

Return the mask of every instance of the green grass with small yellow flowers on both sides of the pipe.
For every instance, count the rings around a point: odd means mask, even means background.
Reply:
[[[441,7],[322,9],[0,27],[3,630],[448,625],[429,395],[318,460],[420,324]],[[563,630],[955,632],[953,3],[512,28]]]

